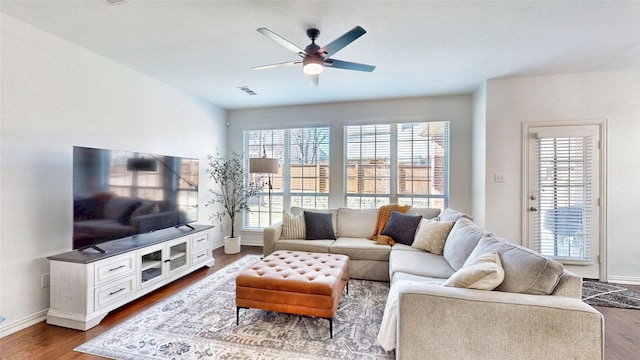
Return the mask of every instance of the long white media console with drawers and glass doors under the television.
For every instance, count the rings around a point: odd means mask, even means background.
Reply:
[[[47,323],[78,330],[98,325],[112,310],[203,266],[215,263],[211,226],[194,225],[50,256]]]

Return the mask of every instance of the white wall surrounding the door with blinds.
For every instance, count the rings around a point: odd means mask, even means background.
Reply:
[[[607,119],[608,280],[640,283],[640,69],[490,80],[486,97],[486,227],[521,243],[522,122]]]

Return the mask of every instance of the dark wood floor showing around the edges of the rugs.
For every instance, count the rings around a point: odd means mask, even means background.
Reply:
[[[71,330],[41,322],[0,339],[0,359],[103,359],[74,352],[73,349],[242,256],[261,253],[262,248],[257,246],[243,246],[242,251],[236,255],[226,255],[223,249],[217,249],[214,251],[214,267],[197,270],[112,311],[100,325],[88,331]],[[630,287],[640,291],[640,286]],[[605,358],[640,359],[640,310],[596,308],[605,317]]]

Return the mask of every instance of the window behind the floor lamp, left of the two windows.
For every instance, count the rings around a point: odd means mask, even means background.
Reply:
[[[266,156],[278,159],[272,174],[271,216],[268,185],[251,200],[245,227],[265,227],[282,220],[282,210],[291,206],[329,207],[329,127],[253,130],[244,132],[245,163]],[[268,184],[269,175],[249,174],[249,181]]]

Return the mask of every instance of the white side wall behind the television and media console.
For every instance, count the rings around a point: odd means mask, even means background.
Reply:
[[[46,257],[71,250],[73,145],[200,158],[201,188],[206,154],[226,148],[224,110],[4,14],[1,23],[0,336],[43,319]],[[203,206],[199,219],[208,223]]]

